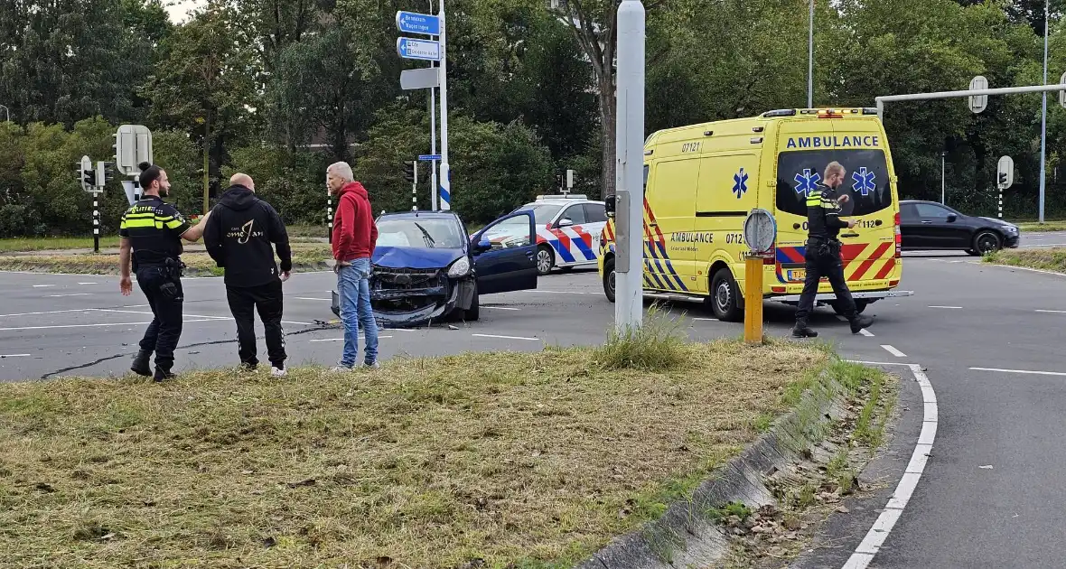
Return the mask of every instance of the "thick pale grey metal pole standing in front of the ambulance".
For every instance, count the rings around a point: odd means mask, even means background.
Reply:
[[[615,100],[615,181],[619,200],[615,271],[615,327],[634,330],[644,320],[644,75],[645,12],[640,0],[618,4],[618,70]],[[617,215],[616,214],[616,221]]]

